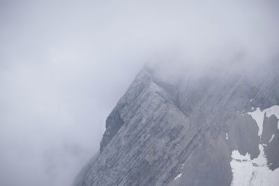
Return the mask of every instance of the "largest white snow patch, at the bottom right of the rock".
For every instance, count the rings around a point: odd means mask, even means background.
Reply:
[[[264,156],[264,147],[259,144],[259,156],[251,160],[250,155],[241,155],[238,150],[232,151],[232,186],[268,185],[278,186],[279,169],[271,171]]]

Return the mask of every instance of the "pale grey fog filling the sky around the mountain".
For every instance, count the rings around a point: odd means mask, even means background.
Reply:
[[[276,61],[278,8],[276,1],[1,0],[0,185],[70,185],[144,63]]]

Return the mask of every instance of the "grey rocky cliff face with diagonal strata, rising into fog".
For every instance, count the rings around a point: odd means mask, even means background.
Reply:
[[[237,167],[263,153],[260,166],[279,183],[279,113],[264,110],[279,105],[279,73],[265,70],[170,79],[146,65],[107,117],[100,154],[75,185],[236,185]],[[265,179],[255,170],[250,185]]]

